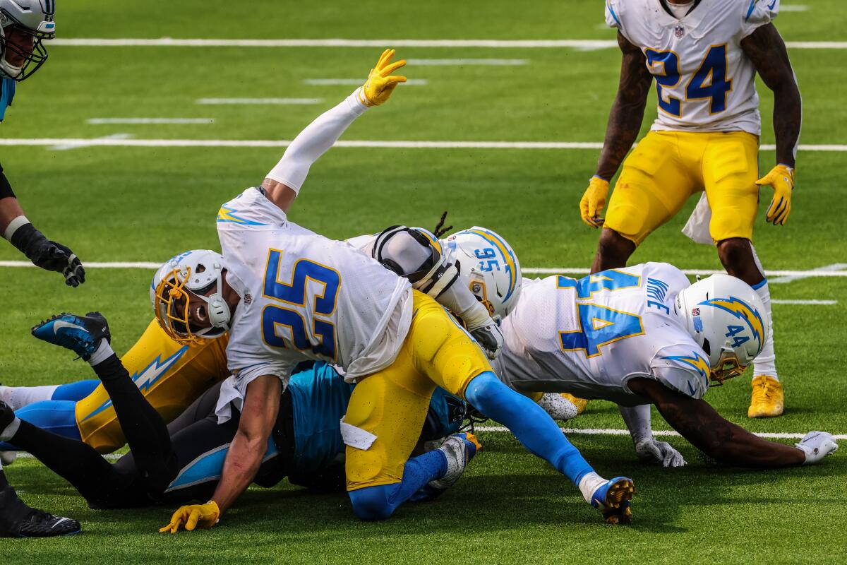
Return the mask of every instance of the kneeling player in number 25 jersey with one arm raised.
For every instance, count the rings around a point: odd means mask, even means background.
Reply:
[[[174,340],[191,343],[229,332],[233,378],[221,388],[219,421],[241,412],[239,431],[213,498],[181,507],[171,530],[212,527],[257,472],[279,408],[280,387],[302,360],[333,363],[357,380],[341,431],[347,490],[365,520],[388,518],[424,485],[455,482],[477,444],[409,456],[440,385],[512,429],[529,451],[579,486],[606,521],[626,523],[633,482],[601,478],[535,402],[503,385],[484,352],[429,294],[343,241],[293,224],[287,211],[311,165],[368,107],[390,97],[405,77],[391,76],[386,50],[364,86],[291,142],[261,187],[226,202],[218,214],[223,257],[189,252],[165,263],[151,293],[157,318]],[[517,271],[515,273],[517,278]],[[422,281],[427,285],[426,281]],[[417,283],[416,283],[417,285]],[[493,334],[492,334],[493,335]]]

